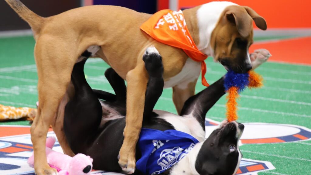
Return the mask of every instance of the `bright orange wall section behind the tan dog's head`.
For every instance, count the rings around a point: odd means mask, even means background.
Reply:
[[[178,7],[189,8],[211,0],[179,0]],[[269,28],[311,28],[310,0],[230,0],[249,6],[264,17]]]

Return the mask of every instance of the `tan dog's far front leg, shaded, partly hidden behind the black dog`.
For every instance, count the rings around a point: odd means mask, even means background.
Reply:
[[[188,98],[195,94],[196,83],[197,79],[195,79],[193,82],[187,83],[185,88],[180,87],[180,84],[173,87],[173,102],[178,114],[181,113],[183,105],[188,100]]]

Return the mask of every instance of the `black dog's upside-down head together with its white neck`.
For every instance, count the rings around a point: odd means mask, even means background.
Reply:
[[[233,175],[239,169],[242,153],[239,139],[244,125],[223,121],[211,135],[177,163],[170,175]]]

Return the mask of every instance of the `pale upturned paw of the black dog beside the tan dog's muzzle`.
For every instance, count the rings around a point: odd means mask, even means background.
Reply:
[[[266,62],[272,55],[267,49],[257,49],[254,53],[250,54],[253,70]]]

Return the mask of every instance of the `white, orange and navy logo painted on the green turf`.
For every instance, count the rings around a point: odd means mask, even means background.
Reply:
[[[208,136],[217,127],[218,122],[207,120],[205,125]],[[244,133],[241,137],[242,147],[243,144],[281,143],[311,139],[311,130],[302,126],[269,123],[244,123],[244,125]],[[48,136],[55,136],[55,134],[50,131]],[[55,143],[53,149],[62,152],[58,142]],[[1,175],[34,175],[34,169],[27,164],[27,159],[31,156],[32,151],[29,126],[0,125]],[[270,162],[243,158],[237,174],[256,175],[258,172],[272,169],[275,168]],[[103,171],[100,173],[119,175],[119,173]]]

